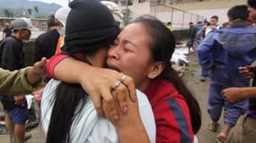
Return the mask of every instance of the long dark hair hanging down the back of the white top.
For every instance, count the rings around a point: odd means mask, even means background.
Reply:
[[[51,103],[54,105],[49,122],[47,143],[70,142],[69,132],[71,125],[75,119],[75,115],[79,114],[83,105],[85,105],[87,98],[85,95],[86,92],[78,84],[69,84],[62,81],[57,86],[55,97]],[[76,110],[77,112],[75,112]]]

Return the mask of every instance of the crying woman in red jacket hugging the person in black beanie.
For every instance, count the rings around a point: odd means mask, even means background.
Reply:
[[[174,47],[175,39],[172,32],[161,21],[144,16],[123,29],[108,52],[107,64],[109,67],[132,77],[136,88],[146,93],[154,112],[156,142],[158,143],[193,142],[194,134],[199,131],[201,124],[197,100],[172,69],[170,59]],[[49,63],[51,75],[53,75],[55,64],[66,55],[58,56],[58,60],[57,58],[52,59]],[[59,66],[66,69],[71,66],[67,63],[69,62],[62,62]],[[82,66],[75,66],[77,65],[75,61],[71,63],[73,64],[72,68],[68,68],[71,72],[63,73],[60,67],[55,69],[57,78],[79,82],[87,88],[88,86],[89,88],[93,87],[92,80],[95,80],[99,74],[94,74],[91,82],[88,82],[88,77],[87,81],[81,81],[86,74],[82,74],[82,72],[92,72],[92,70],[89,68],[84,70]],[[61,76],[66,74],[72,78]],[[126,85],[125,81],[122,83]],[[118,88],[115,89],[119,90]],[[112,116],[109,116],[110,120],[112,120]]]

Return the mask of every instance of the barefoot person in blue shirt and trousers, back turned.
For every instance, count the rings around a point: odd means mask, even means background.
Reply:
[[[234,6],[227,15],[230,27],[214,31],[198,49],[199,63],[202,68],[209,70],[209,130],[216,131],[222,109],[225,111],[225,125],[216,137],[217,141],[222,142],[225,142],[229,130],[248,107],[247,100],[233,105],[225,102],[222,90],[247,87],[249,80],[243,79],[238,67],[251,64],[256,59],[256,29],[246,25],[249,16],[247,6]]]

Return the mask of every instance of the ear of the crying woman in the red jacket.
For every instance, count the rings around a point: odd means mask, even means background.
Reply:
[[[156,78],[158,75],[160,75],[162,73],[164,67],[165,67],[165,64],[163,62],[154,63],[151,71],[149,71],[149,73],[147,74],[147,78],[149,78],[149,79]]]

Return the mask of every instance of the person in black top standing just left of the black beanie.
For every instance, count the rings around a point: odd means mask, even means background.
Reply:
[[[58,25],[54,15],[49,16],[47,25],[48,31],[42,33],[36,39],[34,63],[40,61],[42,57],[49,59],[52,55],[55,55],[59,33],[57,31]]]

